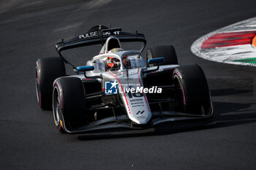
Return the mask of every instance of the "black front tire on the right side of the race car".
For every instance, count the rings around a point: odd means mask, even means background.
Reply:
[[[179,88],[178,111],[207,115],[212,111],[206,76],[197,64],[179,66],[173,71],[173,84]]]

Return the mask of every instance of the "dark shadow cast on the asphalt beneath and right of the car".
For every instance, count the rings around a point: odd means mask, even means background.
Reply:
[[[80,134],[78,139],[81,141],[98,140],[98,139],[118,139],[140,136],[159,136],[170,135],[187,131],[200,131],[209,128],[224,128],[232,125],[240,125],[246,123],[255,123],[256,114],[250,112],[253,103],[238,104],[232,102],[214,102],[214,116],[208,120],[182,121],[165,123],[155,128],[122,131],[120,129],[105,130],[90,134]],[[252,109],[253,110],[253,109]]]

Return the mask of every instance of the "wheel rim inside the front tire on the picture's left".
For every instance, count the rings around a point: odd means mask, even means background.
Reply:
[[[53,93],[53,119],[57,128],[59,128],[59,124],[60,124],[60,116],[59,116],[60,112],[61,112],[61,107],[60,107],[59,91],[55,88]]]

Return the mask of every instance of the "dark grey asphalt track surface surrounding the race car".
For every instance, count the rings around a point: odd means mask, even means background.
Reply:
[[[256,1],[1,1],[0,169],[255,169],[255,68],[197,58],[190,46],[217,28],[255,17]],[[178,123],[104,134],[60,134],[37,106],[37,58],[91,26],[142,32],[147,47],[176,47],[203,67],[214,103],[207,125]],[[86,61],[98,47],[86,50]]]

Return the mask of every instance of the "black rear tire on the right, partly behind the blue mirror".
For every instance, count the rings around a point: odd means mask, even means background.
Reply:
[[[159,65],[178,65],[176,51],[172,45],[161,45],[149,48],[146,54],[146,61],[148,62],[148,59],[152,58],[165,58],[165,61]],[[156,64],[150,64],[149,66],[156,66]]]

